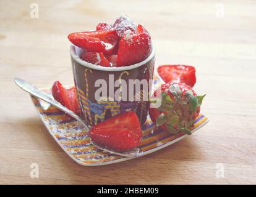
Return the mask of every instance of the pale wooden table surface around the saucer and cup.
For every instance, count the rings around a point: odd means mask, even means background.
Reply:
[[[30,17],[33,2],[39,17]],[[30,6],[32,4],[32,9]],[[33,13],[32,13],[33,14]],[[197,69],[210,123],[142,158],[109,166],[72,161],[15,77],[72,84],[67,34],[129,15],[151,33],[156,64]],[[33,16],[33,15],[32,15]],[[256,2],[0,1],[0,183],[256,183]],[[38,179],[30,165],[39,166]]]

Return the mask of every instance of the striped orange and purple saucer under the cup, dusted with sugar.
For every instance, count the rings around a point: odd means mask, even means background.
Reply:
[[[42,89],[50,94],[49,89]],[[49,131],[49,134],[59,144],[59,146],[75,162],[82,166],[100,166],[106,164],[119,163],[132,157],[122,157],[99,150],[90,143],[88,132],[78,121],[69,119],[64,112],[58,110],[46,102],[32,97],[36,111]],[[189,129],[192,132],[197,131],[200,127],[208,123],[208,118],[200,114]],[[139,148],[143,155],[153,153],[164,147],[183,139],[187,134],[170,134],[161,129],[156,130],[155,125],[148,116],[147,122],[143,127],[143,139]]]

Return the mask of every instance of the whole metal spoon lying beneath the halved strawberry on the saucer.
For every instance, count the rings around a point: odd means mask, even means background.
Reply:
[[[85,129],[88,132],[90,132],[90,126],[87,126],[87,124],[85,124],[83,122],[83,119],[81,119],[79,116],[77,116],[73,111],[71,111],[68,108],[64,107],[57,100],[54,100],[54,98],[49,97],[49,95],[46,94],[45,92],[42,92],[40,89],[38,89],[37,87],[33,86],[32,84],[30,84],[29,82],[27,82],[27,81],[25,81],[23,79],[15,78],[14,82],[15,82],[15,84],[17,84],[17,86],[19,86],[21,89],[25,90],[29,94],[33,95],[34,97],[40,98],[41,100],[44,100],[45,102],[50,103],[51,105],[53,105],[54,107],[58,108],[59,110],[64,111],[66,114],[72,116],[77,121],[82,123],[83,126],[85,127]],[[109,148],[102,147],[101,145],[96,144],[95,142],[92,141],[92,139],[90,139],[90,142],[93,145],[95,145],[95,147],[99,148],[100,150],[107,151],[107,152],[109,152],[111,154],[114,154],[114,155],[120,155],[120,156],[126,156],[126,157],[137,157],[137,156],[142,156],[142,154],[143,154],[143,152],[139,148],[135,148],[132,151],[127,151],[127,152],[119,153],[119,152],[116,152],[114,150],[109,150]]]

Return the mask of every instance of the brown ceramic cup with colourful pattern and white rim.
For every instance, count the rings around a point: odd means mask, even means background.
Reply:
[[[93,126],[111,116],[133,110],[137,113],[143,126],[147,119],[149,104],[142,97],[148,98],[150,88],[145,90],[142,85],[139,88],[134,86],[134,91],[130,93],[129,81],[130,79],[139,79],[139,81],[143,79],[144,82],[150,83],[155,64],[154,47],[147,59],[134,65],[121,67],[104,67],[85,62],[80,59],[82,52],[83,49],[74,45],[70,46],[74,81],[85,123]],[[106,82],[104,83],[104,81]],[[103,83],[101,84],[101,82]],[[115,82],[121,85],[114,87]],[[124,88],[125,82],[127,88]],[[150,87],[149,84],[148,87]],[[100,92],[100,88],[103,92],[107,92],[107,95],[103,95],[101,92],[100,97],[97,97],[96,93]],[[127,97],[124,98],[123,95],[127,95]]]

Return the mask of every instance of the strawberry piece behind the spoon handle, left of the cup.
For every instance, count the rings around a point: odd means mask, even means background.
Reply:
[[[66,89],[62,86],[61,82],[55,81],[53,87],[51,87],[51,92],[55,100],[60,102],[69,110],[74,111],[75,114],[80,115],[79,101],[77,99],[75,87]]]

